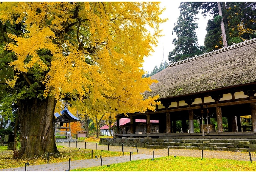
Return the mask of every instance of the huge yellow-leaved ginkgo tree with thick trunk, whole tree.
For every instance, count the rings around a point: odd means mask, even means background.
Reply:
[[[166,21],[159,4],[0,3],[1,101],[13,96],[17,105],[20,158],[58,152],[53,113],[60,99],[81,101],[93,115],[154,110],[158,96],[143,100],[141,93],[157,81],[141,78],[141,67]]]

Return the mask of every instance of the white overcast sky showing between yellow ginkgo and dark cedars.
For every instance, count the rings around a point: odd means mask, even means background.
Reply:
[[[167,60],[167,62],[169,62],[169,52],[171,52],[175,48],[175,46],[172,44],[172,40],[174,38],[177,38],[175,33],[172,35],[172,29],[174,28],[174,23],[177,22],[177,19],[180,16],[180,2],[181,1],[161,2],[160,7],[166,7],[166,10],[161,15],[161,18],[168,18],[169,20],[160,25],[160,29],[163,30],[162,34],[165,36],[158,39],[158,46],[154,47],[155,52],[151,53],[151,56],[144,57],[144,71],[148,71],[150,73],[156,65],[159,67],[161,61],[163,60],[163,56],[164,60]],[[201,12],[198,14],[197,17],[199,18],[199,20],[197,21],[199,27],[197,30],[198,43],[199,46],[203,46],[204,37],[206,35],[205,28],[207,26],[207,20],[209,20],[210,17],[207,16],[207,18],[204,19],[201,15]]]

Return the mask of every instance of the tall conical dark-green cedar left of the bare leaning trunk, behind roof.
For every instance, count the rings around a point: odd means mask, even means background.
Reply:
[[[181,2],[179,8],[180,17],[172,30],[172,34],[175,32],[178,39],[173,39],[172,43],[176,47],[168,55],[169,61],[173,62],[202,54],[196,34],[198,11],[191,7],[191,2]]]

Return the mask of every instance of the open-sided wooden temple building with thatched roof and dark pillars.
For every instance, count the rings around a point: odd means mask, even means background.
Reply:
[[[159,95],[155,111],[129,114],[130,134],[120,134],[117,116],[117,137],[168,138],[171,136],[249,135],[256,138],[256,39],[233,44],[186,60],[174,62],[153,75],[151,92],[145,98]],[[251,116],[251,132],[244,132],[240,116]],[[228,129],[224,131],[223,117]],[[217,119],[217,127],[210,122]],[[146,133],[138,134],[135,119],[146,120]],[[202,121],[203,119],[203,121]],[[159,133],[151,133],[151,120],[159,121]],[[195,133],[194,120],[201,132]],[[182,133],[176,122],[181,121]],[[178,133],[179,132],[179,133]]]

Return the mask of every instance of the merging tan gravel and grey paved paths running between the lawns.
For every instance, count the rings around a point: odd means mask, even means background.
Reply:
[[[59,143],[59,146],[63,145],[65,147],[69,147],[69,143]],[[77,146],[76,146],[77,145]],[[85,148],[84,142],[70,143],[70,147],[72,148]],[[96,150],[96,142],[87,142],[86,149]],[[97,150],[108,150],[107,145],[98,145]],[[109,146],[110,151],[122,151],[121,146]],[[147,149],[147,148],[138,148],[139,154],[133,154],[132,160],[141,160],[141,159],[150,159],[168,156],[168,149]],[[134,152],[137,153],[136,147],[128,147],[124,146],[124,152]],[[169,149],[170,156],[188,156],[188,157],[202,157],[202,150],[194,150],[194,149]],[[256,161],[256,153],[251,152],[252,161]],[[203,150],[203,158],[219,158],[219,159],[233,159],[233,160],[243,160],[250,161],[248,152],[231,152],[231,151],[210,151]],[[118,157],[105,157],[102,158],[102,165],[111,165],[114,163],[121,162],[129,162],[130,155],[118,156]],[[52,164],[44,164],[44,165],[28,165],[27,171],[65,171],[68,170],[68,162],[62,163],[52,163]],[[96,159],[88,159],[88,160],[77,160],[71,161],[70,169],[82,168],[82,167],[93,167],[100,166],[100,158]],[[1,169],[0,171],[24,171],[25,166],[18,168],[9,168],[9,169]]]

